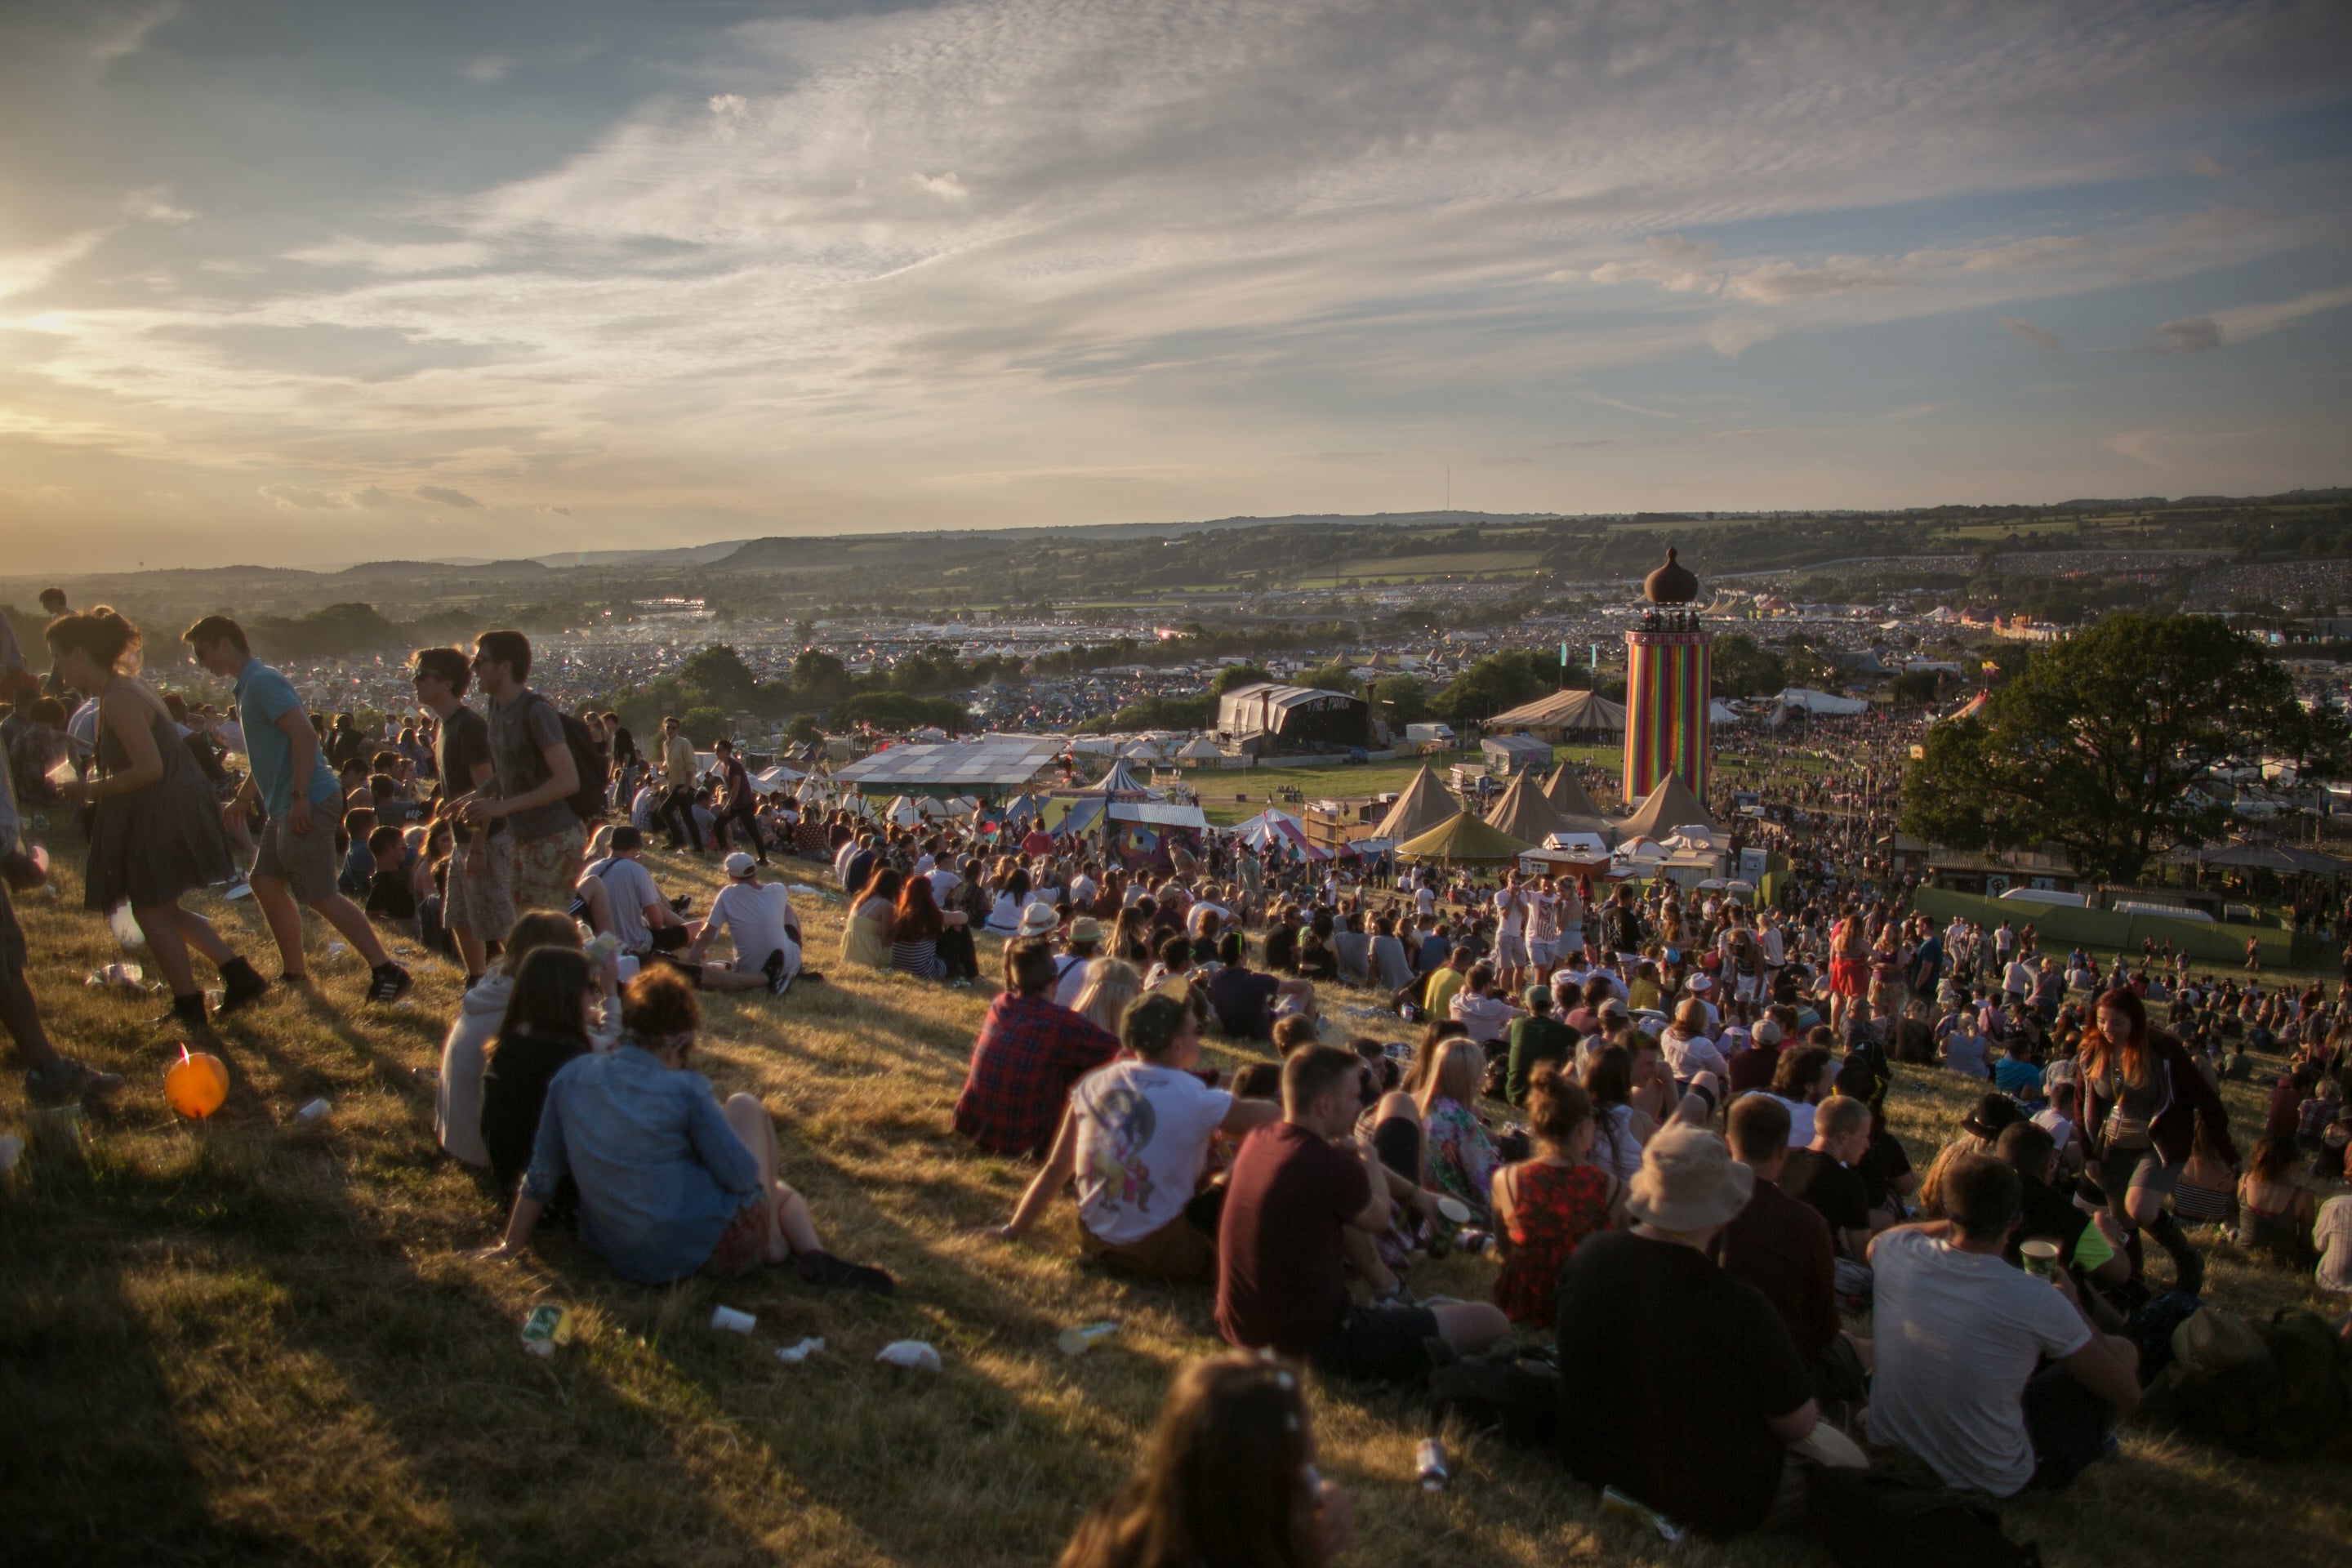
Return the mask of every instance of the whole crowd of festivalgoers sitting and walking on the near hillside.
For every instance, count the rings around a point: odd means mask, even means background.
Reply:
[[[174,710],[113,611],[47,630],[96,724],[85,766],[38,776],[89,813],[87,903],[129,910],[188,1034],[306,985],[303,910],[369,964],[367,1006],[412,990],[386,933],[456,964],[435,1133],[503,1225],[487,1258],[562,1227],[628,1281],[779,1267],[894,1293],[828,1246],[769,1112],[694,1070],[696,992],[783,1027],[793,987],[823,983],[795,877],[842,900],[847,971],[1002,978],[938,1107],[971,1159],[1035,1161],[997,1244],[1035,1246],[1068,1192],[1082,1258],[1197,1291],[1228,1345],[1174,1380],[1143,1472],[1063,1563],[1343,1547],[1308,1375],[1444,1399],[1486,1368],[1557,1406],[1581,1481],[1738,1535],[1858,1507],[1835,1472],[1860,1467],[1922,1493],[2067,1486],[2169,1366],[2218,1399],[2211,1345],[2258,1331],[2201,1300],[2206,1227],[2352,1293],[2347,997],[1917,914],[1877,863],[1900,738],[1867,726],[1811,733],[1844,748],[1837,771],[1719,780],[1795,851],[1757,907],[1668,879],[1218,832],[1136,849],[1033,809],[901,820],[762,795],[724,736],[706,769],[675,722],[642,757],[614,715],[557,712],[508,630],[419,651],[416,715],[383,736],[303,710],[223,616],[183,642],[235,682],[233,715]],[[42,724],[54,698],[5,654]],[[26,889],[9,773],[0,849]],[[661,889],[652,837],[722,856],[701,917]],[[336,886],[353,846],[365,907]],[[259,900],[275,978],[181,903],[230,886]],[[28,1088],[118,1091],[47,1041],[24,971],[0,900]],[[1232,1084],[1204,1039],[1249,1063]],[[2277,1084],[2241,1154],[2218,1086],[2253,1056]],[[1898,1065],[1976,1095],[1924,1168],[1889,1128]],[[1416,1267],[1456,1248],[1498,1258],[1491,1300],[1416,1295]]]

